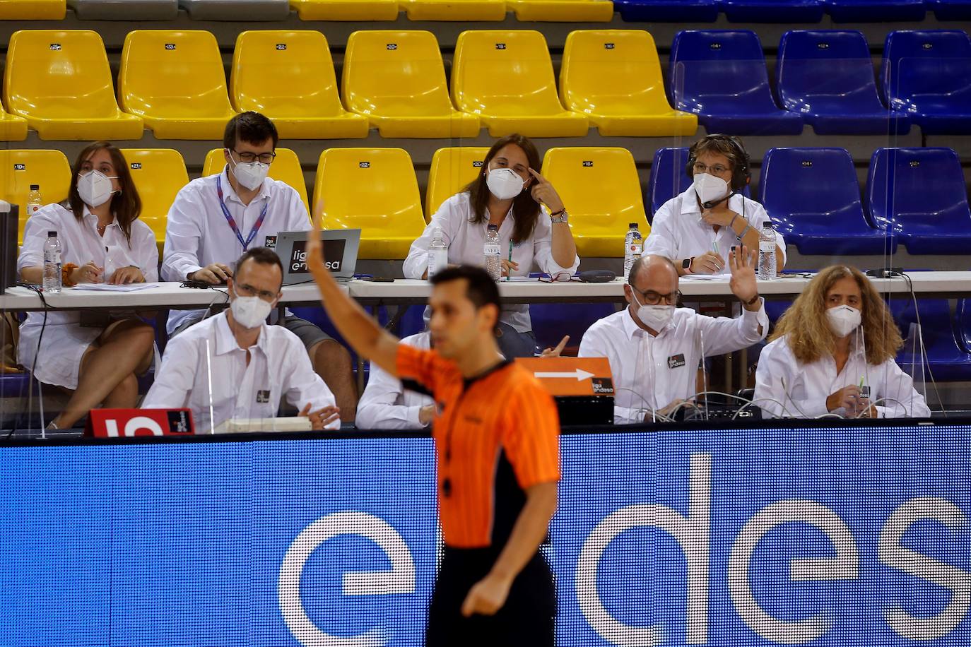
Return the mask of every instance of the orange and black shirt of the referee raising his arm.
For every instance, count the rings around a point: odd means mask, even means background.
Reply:
[[[464,378],[434,350],[398,344],[402,379],[439,405],[434,438],[442,535],[452,548],[505,544],[524,490],[559,480],[559,416],[532,373],[502,363]]]

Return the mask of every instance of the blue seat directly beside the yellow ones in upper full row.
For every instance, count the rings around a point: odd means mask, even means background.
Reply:
[[[696,113],[709,133],[799,135],[802,116],[772,98],[753,31],[680,31],[670,57],[674,107]]]

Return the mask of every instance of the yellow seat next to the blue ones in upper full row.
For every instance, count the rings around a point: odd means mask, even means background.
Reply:
[[[601,135],[693,135],[698,116],[673,110],[654,39],[641,29],[571,32],[559,70],[566,107],[586,113]]]

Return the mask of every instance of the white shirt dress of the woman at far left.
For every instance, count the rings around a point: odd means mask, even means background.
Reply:
[[[48,232],[56,231],[61,243],[61,263],[74,263],[78,267],[94,261],[104,268],[104,278],[112,277],[118,268],[137,267],[152,283],[158,280],[158,247],[149,225],[141,220],[131,223],[131,240],[126,240],[121,228],[112,222],[105,228],[105,235],[98,235],[98,216],[84,206],[84,216],[79,221],[74,212],[62,205],[48,205],[37,210],[27,220],[23,231],[23,246],[17,258],[17,272],[24,268],[44,266],[44,243]],[[64,288],[71,289],[71,288]],[[32,369],[34,376],[46,384],[66,389],[78,388],[78,372],[84,351],[98,339],[103,329],[82,328],[78,310],[52,310],[47,314],[30,312],[20,325],[20,343],[17,362]],[[44,327],[41,361],[36,361],[37,342]]]

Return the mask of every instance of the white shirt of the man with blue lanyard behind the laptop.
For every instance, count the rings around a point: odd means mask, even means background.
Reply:
[[[226,168],[222,173],[196,178],[180,189],[165,226],[165,248],[162,252],[162,278],[184,281],[186,275],[213,263],[232,267],[246,249],[236,238],[219,207],[216,179],[222,185],[226,209],[236,220],[240,235],[246,241],[259,214],[266,207],[266,217],[250,248],[266,243],[280,232],[303,232],[311,227],[307,208],[296,190],[277,179],[266,178],[259,194],[244,205],[233,190]],[[270,238],[270,241],[267,239]],[[205,310],[172,310],[166,329],[175,331],[186,319],[200,318]]]

